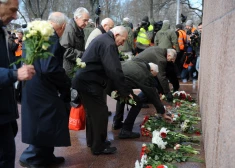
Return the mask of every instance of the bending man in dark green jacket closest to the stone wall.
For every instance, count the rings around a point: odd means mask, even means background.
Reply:
[[[133,60],[152,62],[159,66],[159,73],[156,79],[159,81],[159,87],[162,87],[163,94],[166,95],[168,101],[172,101],[173,96],[170,92],[167,78],[167,62],[174,62],[175,59],[176,51],[174,49],[164,49],[157,46],[149,47],[133,58]]]

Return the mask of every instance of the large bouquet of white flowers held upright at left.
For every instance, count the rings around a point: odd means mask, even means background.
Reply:
[[[51,45],[49,37],[54,34],[52,25],[47,21],[36,20],[30,22],[27,28],[23,36],[26,57],[19,59],[16,63],[22,61],[31,65],[36,59],[52,56],[53,54],[47,51]]]

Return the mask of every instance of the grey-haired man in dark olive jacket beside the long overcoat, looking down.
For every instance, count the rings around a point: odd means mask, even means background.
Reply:
[[[73,19],[66,25],[61,37],[60,43],[65,48],[63,67],[69,76],[73,73],[76,58],[82,57],[85,50],[83,29],[88,24],[89,18],[90,15],[86,8],[77,8]]]

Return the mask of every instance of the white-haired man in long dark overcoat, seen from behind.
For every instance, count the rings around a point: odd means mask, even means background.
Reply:
[[[63,48],[59,43],[67,17],[52,13],[48,21],[55,34],[48,49],[54,56],[36,60],[36,75],[22,91],[22,142],[29,144],[20,157],[23,167],[47,167],[64,162],[55,157],[54,147],[70,146],[69,114],[65,102],[70,101],[70,79],[62,67]]]

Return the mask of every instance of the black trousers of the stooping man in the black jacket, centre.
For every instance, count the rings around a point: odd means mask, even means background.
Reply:
[[[96,94],[80,92],[86,111],[86,139],[92,152],[105,148],[108,126],[108,107],[105,91]]]

